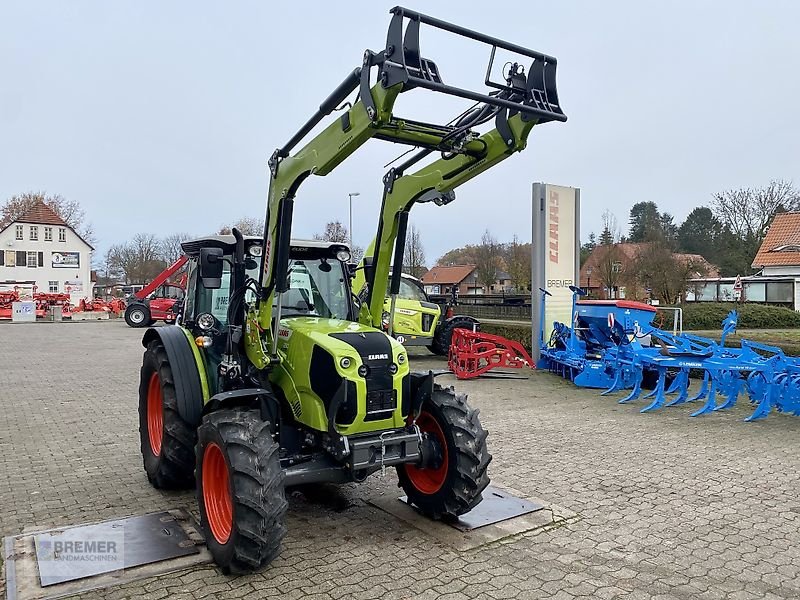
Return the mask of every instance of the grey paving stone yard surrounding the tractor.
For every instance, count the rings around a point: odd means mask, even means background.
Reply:
[[[196,514],[192,494],[154,490],[142,470],[140,337],[119,321],[0,325],[0,535]],[[207,566],[84,597],[800,597],[800,419],[743,423],[745,403],[641,415],[546,373],[456,387],[490,431],[493,483],[578,520],[457,552],[367,504],[397,493],[390,473],[293,494],[283,550],[262,573]]]

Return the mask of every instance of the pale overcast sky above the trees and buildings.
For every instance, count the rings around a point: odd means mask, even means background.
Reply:
[[[263,218],[266,161],[381,50],[389,2],[0,3],[0,200],[46,190],[79,200],[98,251],[136,232],[203,234]],[[567,123],[411,221],[429,263],[475,243],[530,239],[534,181],[580,187],[582,237],[608,208],[621,224],[653,200],[680,222],[715,191],[800,183],[800,3],[444,2],[409,4],[558,58]],[[426,35],[449,83],[480,89],[487,55]],[[414,91],[401,116],[463,108]],[[406,99],[405,96],[409,98]],[[407,107],[406,115],[403,108]],[[445,109],[450,109],[445,111]],[[295,205],[295,237],[347,222],[374,235],[383,165],[372,141]]]

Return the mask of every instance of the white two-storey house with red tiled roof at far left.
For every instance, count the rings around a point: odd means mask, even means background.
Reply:
[[[0,230],[0,290],[92,297],[92,248],[43,202]]]

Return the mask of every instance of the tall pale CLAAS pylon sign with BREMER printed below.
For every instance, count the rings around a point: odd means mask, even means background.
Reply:
[[[570,286],[579,285],[580,271],[580,189],[534,183],[532,214],[532,354],[538,360],[540,335],[550,337],[553,321],[572,323]],[[538,310],[540,289],[550,294],[544,327]]]

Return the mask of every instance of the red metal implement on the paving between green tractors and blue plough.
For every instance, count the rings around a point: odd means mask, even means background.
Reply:
[[[468,329],[453,331],[448,366],[458,379],[474,379],[498,368],[535,368],[530,354],[519,342]]]

